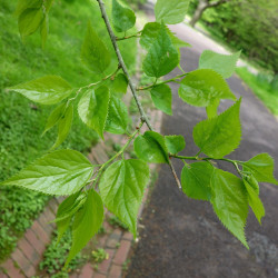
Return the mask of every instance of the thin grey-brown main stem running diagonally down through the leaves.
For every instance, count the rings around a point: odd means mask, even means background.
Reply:
[[[99,8],[100,8],[100,11],[101,11],[101,16],[102,16],[102,18],[103,18],[103,20],[105,20],[105,23],[106,23],[108,33],[109,33],[110,39],[111,39],[111,42],[112,42],[112,44],[113,44],[113,49],[115,49],[115,52],[116,52],[116,54],[117,54],[119,64],[120,64],[120,67],[122,68],[122,71],[125,72],[125,75],[127,76],[129,87],[130,87],[130,89],[131,89],[131,92],[132,92],[133,98],[135,98],[135,100],[136,100],[136,105],[137,105],[137,107],[138,107],[138,109],[139,109],[139,112],[140,112],[140,115],[141,115],[141,121],[146,122],[146,125],[148,126],[149,130],[153,131],[153,129],[152,129],[152,127],[151,127],[151,123],[150,123],[150,121],[149,121],[149,119],[148,119],[148,117],[147,117],[147,115],[146,115],[146,112],[145,112],[145,110],[143,110],[143,108],[142,108],[142,105],[141,105],[141,102],[140,102],[140,100],[139,100],[139,98],[138,98],[138,96],[137,96],[136,87],[133,86],[133,83],[132,83],[132,81],[131,81],[131,78],[130,78],[130,76],[129,76],[127,66],[126,66],[126,63],[125,63],[125,61],[123,61],[123,59],[122,59],[120,49],[119,49],[118,43],[117,43],[117,37],[115,36],[115,33],[113,33],[113,31],[112,31],[111,24],[110,24],[110,22],[109,22],[109,19],[108,19],[107,12],[106,12],[105,3],[103,3],[102,0],[97,0],[97,1],[98,1],[98,3],[99,3]],[[181,189],[180,181],[179,181],[179,179],[178,179],[177,172],[176,172],[176,170],[175,170],[175,168],[173,168],[171,161],[169,162],[169,165],[170,165],[170,168],[171,168],[171,172],[172,172],[172,175],[173,175],[173,177],[175,177],[175,180],[176,180],[176,182],[177,182],[177,186],[178,186],[179,189]]]

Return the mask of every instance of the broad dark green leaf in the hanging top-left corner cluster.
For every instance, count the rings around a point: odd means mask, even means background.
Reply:
[[[19,32],[22,38],[34,33],[43,21],[42,9],[26,9],[18,19]]]

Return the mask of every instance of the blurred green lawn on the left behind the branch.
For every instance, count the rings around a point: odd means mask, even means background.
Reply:
[[[92,75],[80,60],[80,49],[87,23],[108,40],[100,13],[93,1],[56,0],[50,11],[50,34],[46,49],[40,47],[39,33],[21,42],[17,19],[12,16],[16,1],[2,0],[0,6],[0,181],[27,163],[46,153],[56,139],[56,130],[41,137],[46,119],[53,107],[32,103],[24,97],[7,92],[4,88],[46,75],[58,75],[72,87],[79,87],[99,77]],[[95,3],[95,4],[93,4]],[[125,60],[135,71],[136,42],[123,41]],[[110,71],[117,67],[116,57]],[[108,70],[108,71],[109,71]],[[77,111],[76,116],[77,116]],[[86,153],[98,140],[78,117],[61,148]],[[14,248],[18,238],[30,227],[32,219],[43,209],[49,197],[20,188],[0,190],[0,261]]]

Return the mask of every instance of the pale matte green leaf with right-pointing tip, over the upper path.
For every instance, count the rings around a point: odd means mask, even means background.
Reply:
[[[199,60],[199,69],[212,69],[224,78],[232,76],[241,51],[234,54],[220,54],[211,50],[205,50]]]

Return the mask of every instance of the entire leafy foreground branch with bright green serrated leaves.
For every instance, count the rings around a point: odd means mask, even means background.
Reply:
[[[137,237],[137,214],[150,176],[148,163],[169,165],[180,193],[183,191],[190,198],[209,201],[224,226],[248,248],[245,225],[249,207],[259,222],[265,216],[258,182],[278,185],[278,181],[274,177],[274,160],[268,153],[259,153],[248,161],[226,157],[239,146],[241,139],[241,98],[235,97],[225,80],[232,75],[240,53],[224,56],[205,51],[198,69],[185,72],[179,66],[180,48],[189,44],[179,40],[168,24],[183,21],[189,0],[158,0],[155,7],[156,22],[148,22],[138,32],[131,29],[136,23],[135,12],[120,1],[112,0],[111,7],[102,0],[92,3],[99,7],[95,17],[103,19],[110,42],[107,44],[102,40],[105,34],[88,22],[81,59],[99,79],[77,87],[61,77],[50,75],[9,88],[10,93],[16,91],[34,102],[57,105],[48,118],[47,129],[56,125],[59,129],[54,145],[47,155],[2,185],[46,195],[68,196],[59,206],[56,219],[58,240],[71,226],[72,246],[64,267],[100,229],[103,206]],[[22,37],[40,30],[46,42],[46,24],[52,0],[19,2],[19,30]],[[142,70],[152,80],[143,87],[133,85],[119,48],[123,41],[136,38],[139,38],[147,52]],[[176,67],[180,68],[181,75],[161,79]],[[203,107],[207,111],[208,119],[200,121],[193,129],[192,137],[199,147],[193,157],[178,155],[186,149],[182,136],[163,136],[152,129],[138,98],[138,91],[150,91],[153,105],[171,115],[170,82],[180,85],[179,97],[182,101]],[[120,96],[126,93],[128,86],[141,117],[136,130],[128,135],[126,145],[112,158],[102,165],[91,165],[76,150],[54,150],[70,132],[75,117],[79,117],[102,139],[105,132],[127,133],[129,116]],[[234,103],[219,115],[221,99],[229,99]],[[73,112],[73,106],[78,107],[78,113]],[[143,125],[149,131],[141,133]],[[131,143],[137,159],[125,157]],[[172,167],[172,159],[185,165],[181,182]],[[217,168],[214,161],[218,160],[231,163],[237,176]]]

